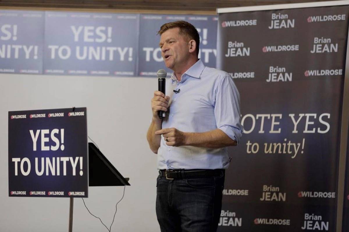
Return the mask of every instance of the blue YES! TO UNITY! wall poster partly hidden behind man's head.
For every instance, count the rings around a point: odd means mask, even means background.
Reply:
[[[160,35],[157,32],[164,23],[184,20],[193,24],[200,35],[199,58],[206,66],[216,67],[217,16],[210,15],[141,15],[138,74],[156,77],[159,69],[168,73],[159,47]]]

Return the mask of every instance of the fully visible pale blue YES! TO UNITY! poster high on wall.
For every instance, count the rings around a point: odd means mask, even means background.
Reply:
[[[135,76],[138,14],[46,11],[44,73]]]

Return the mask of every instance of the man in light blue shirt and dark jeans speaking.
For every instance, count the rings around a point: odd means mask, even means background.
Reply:
[[[157,153],[156,215],[162,232],[216,231],[222,208],[227,146],[238,144],[238,90],[226,72],[205,67],[200,37],[185,21],[161,26],[159,46],[173,70],[165,96],[154,92],[150,149]],[[165,111],[163,119],[158,111]]]

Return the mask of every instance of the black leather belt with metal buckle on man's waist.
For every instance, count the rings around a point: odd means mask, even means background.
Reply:
[[[166,179],[185,179],[204,176],[223,176],[224,169],[162,169],[159,170],[160,176]]]

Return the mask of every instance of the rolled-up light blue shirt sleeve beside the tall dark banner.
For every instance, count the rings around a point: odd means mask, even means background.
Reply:
[[[239,143],[243,134],[240,123],[240,94],[229,75],[223,77],[216,89],[214,113],[217,128]]]

